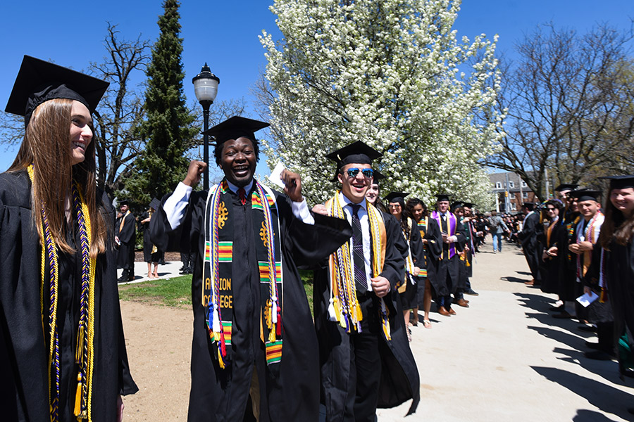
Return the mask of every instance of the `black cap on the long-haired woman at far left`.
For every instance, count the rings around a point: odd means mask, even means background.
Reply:
[[[54,98],[77,100],[92,113],[108,85],[110,82],[76,70],[24,56],[5,111],[24,116],[25,126],[37,106]]]

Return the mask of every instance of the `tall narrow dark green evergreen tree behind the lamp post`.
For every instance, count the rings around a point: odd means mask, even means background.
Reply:
[[[137,174],[126,184],[130,197],[144,204],[169,193],[185,177],[189,161],[185,152],[198,131],[183,94],[179,6],[177,0],[163,3],[161,34],[147,68],[147,120],[139,129],[147,148],[137,160]]]

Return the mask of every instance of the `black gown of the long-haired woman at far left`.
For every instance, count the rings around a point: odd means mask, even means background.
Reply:
[[[101,215],[114,224],[114,210],[104,194]],[[77,230],[74,231],[77,233]],[[111,232],[112,233],[112,232]],[[68,236],[71,245],[79,240]],[[97,258],[95,274],[94,381],[92,417],[116,420],[118,394],[138,388],[128,369],[116,283],[116,250]],[[81,252],[58,252],[57,324],[60,341],[60,421],[75,421]],[[7,421],[49,422],[48,312],[42,332],[40,307],[41,247],[31,217],[31,182],[26,171],[0,174],[0,408]],[[46,267],[48,271],[48,266]],[[48,309],[47,287],[44,307]]]

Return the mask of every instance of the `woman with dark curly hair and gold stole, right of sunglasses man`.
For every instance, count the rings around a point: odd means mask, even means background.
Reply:
[[[435,219],[429,218],[427,205],[418,198],[409,198],[405,207],[409,215],[414,218],[416,228],[423,243],[423,262],[419,262],[421,272],[418,274],[418,303],[414,308],[416,321],[418,321],[418,307],[423,307],[423,326],[431,328],[429,310],[432,300],[431,280],[435,275],[435,262],[442,252],[442,236],[440,227]],[[422,304],[422,305],[421,305]]]

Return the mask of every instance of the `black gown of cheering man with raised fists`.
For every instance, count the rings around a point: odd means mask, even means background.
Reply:
[[[317,421],[319,413],[319,366],[317,338],[298,265],[313,265],[337,250],[352,236],[344,219],[314,215],[315,225],[294,217],[285,195],[275,192],[280,219],[282,249],[282,360],[279,378],[266,369],[260,340],[260,279],[256,258],[251,195],[247,205],[232,197],[233,238],[232,290],[233,326],[231,368],[220,369],[213,357],[201,305],[202,257],[204,256],[204,212],[206,192],[189,198],[182,234],[194,253],[192,302],[192,389],[188,421],[242,421],[249,387],[256,367],[260,389],[260,421]],[[166,197],[167,198],[167,197]],[[164,199],[166,199],[164,198]],[[164,200],[163,200],[164,203]],[[168,249],[170,224],[163,205],[151,219],[151,238],[161,250]],[[178,237],[179,232],[171,233]],[[250,409],[249,409],[250,411]]]

